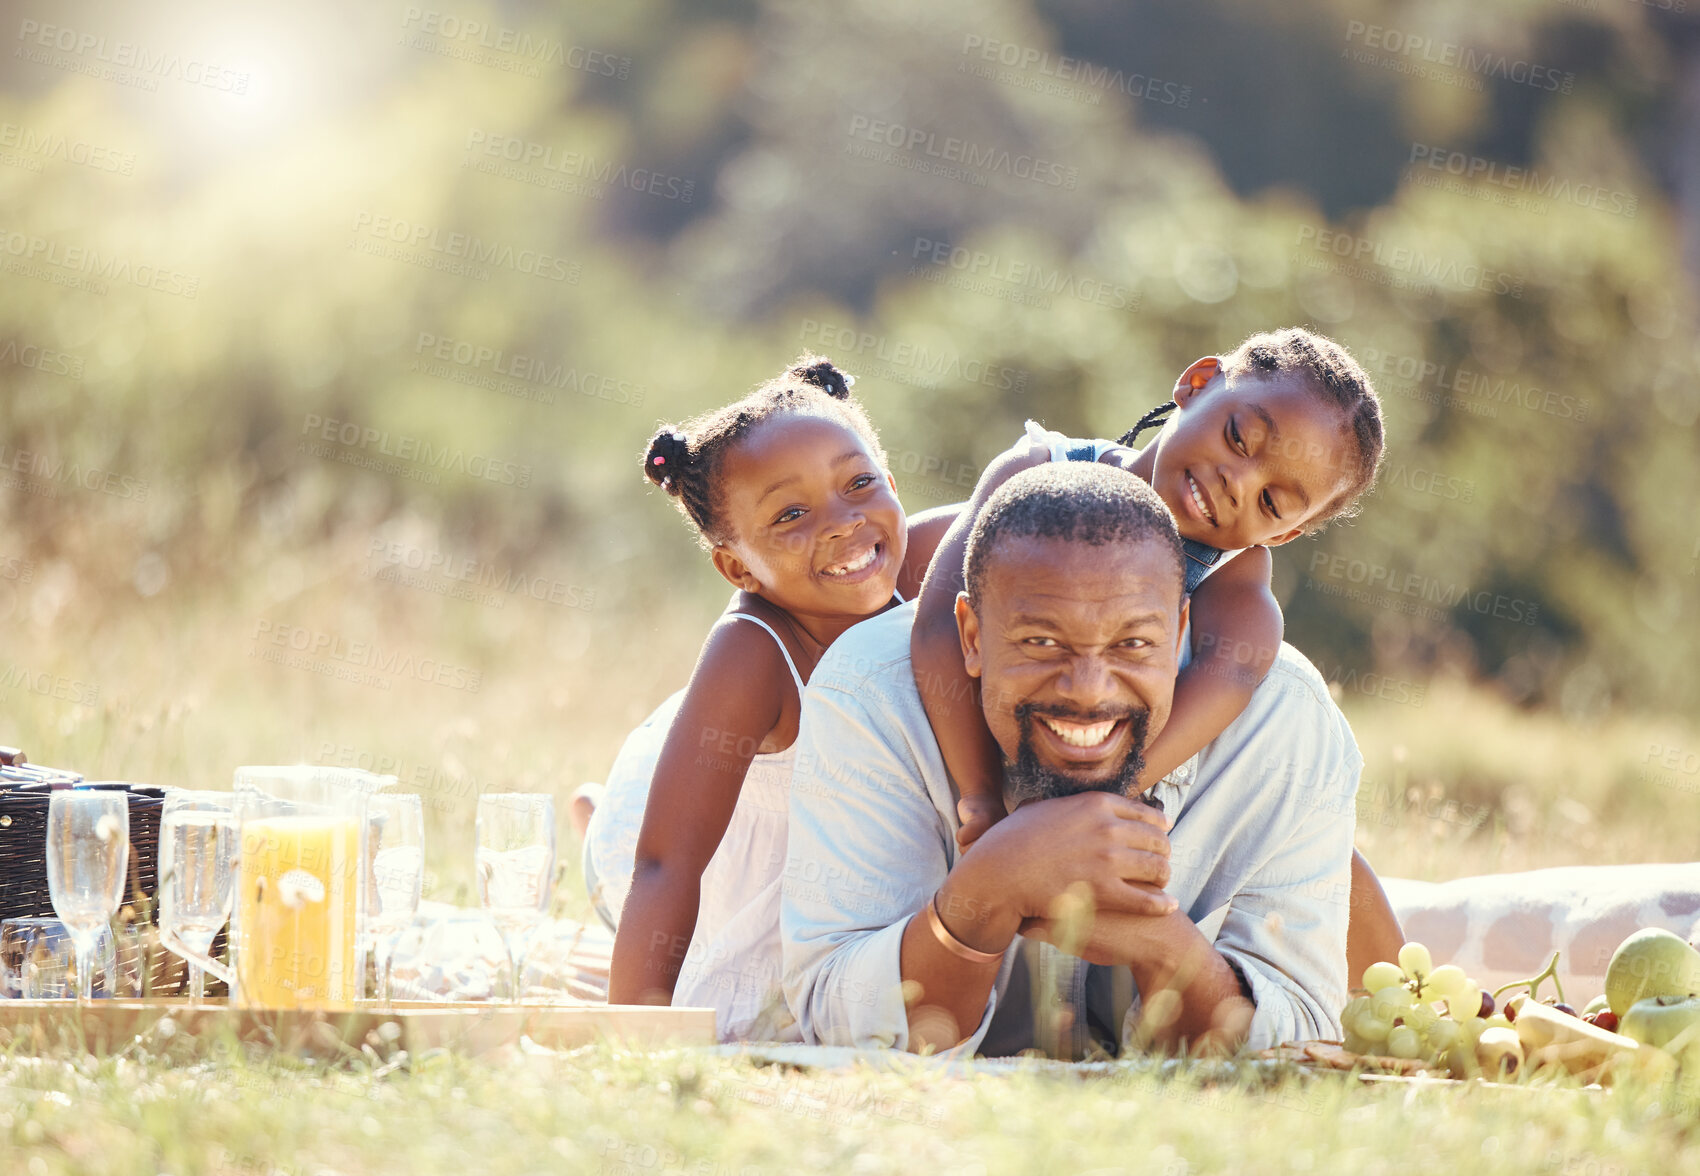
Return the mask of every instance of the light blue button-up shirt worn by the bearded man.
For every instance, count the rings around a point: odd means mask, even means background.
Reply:
[[[910,603],[843,634],[804,693],[780,936],[785,1001],[806,1042],[908,1047],[903,931],[957,860],[957,792],[915,687],[913,619]],[[1251,1049],[1338,1038],[1362,766],[1321,675],[1284,644],[1244,712],[1154,789],[1175,821],[1166,889],[1244,977]],[[1040,1043],[1047,1018],[1030,999],[998,1008],[1017,957],[1037,947],[1018,938],[1005,955],[962,1049],[991,1049],[988,1030],[1000,1050]],[[1130,991],[1127,969],[1105,972]],[[1015,989],[1034,989],[1027,975]],[[1071,1020],[1110,1020],[1115,1040],[1137,994],[1117,1006],[1103,998],[1114,982],[1083,977],[1073,998],[1096,1006]]]

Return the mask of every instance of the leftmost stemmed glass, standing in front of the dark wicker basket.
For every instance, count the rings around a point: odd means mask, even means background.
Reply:
[[[65,789],[48,802],[48,896],[76,947],[76,1003],[88,1003],[94,955],[124,897],[128,789]]]

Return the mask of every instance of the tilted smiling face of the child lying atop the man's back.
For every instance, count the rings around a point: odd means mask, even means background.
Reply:
[[[1183,377],[1175,401],[1154,442],[1151,486],[1187,539],[1221,549],[1284,544],[1352,483],[1340,410],[1294,376],[1229,381],[1217,369],[1197,387]]]

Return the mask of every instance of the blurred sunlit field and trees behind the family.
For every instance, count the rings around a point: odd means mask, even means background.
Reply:
[[[0,741],[396,772],[466,899],[724,603],[660,421],[824,352],[923,510],[1302,323],[1389,423],[1277,554],[1360,845],[1692,858],[1697,8],[7,5]]]

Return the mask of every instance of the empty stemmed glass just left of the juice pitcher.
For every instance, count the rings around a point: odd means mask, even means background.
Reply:
[[[196,957],[212,950],[236,890],[231,800],[230,792],[172,789],[160,811],[160,941],[189,964],[190,1006],[201,1004],[207,982]]]

